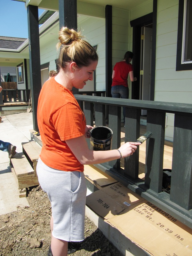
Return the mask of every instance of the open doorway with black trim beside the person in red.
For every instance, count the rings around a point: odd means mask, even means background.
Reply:
[[[156,61],[156,11],[130,21],[133,28],[132,65],[137,81],[132,85],[132,99],[154,100]],[[142,115],[146,115],[142,111]]]

